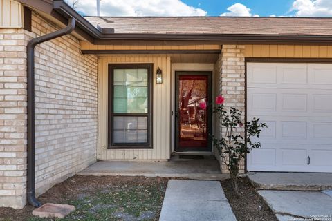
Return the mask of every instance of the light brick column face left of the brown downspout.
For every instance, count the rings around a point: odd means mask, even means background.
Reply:
[[[0,207],[26,204],[26,42],[0,29]]]

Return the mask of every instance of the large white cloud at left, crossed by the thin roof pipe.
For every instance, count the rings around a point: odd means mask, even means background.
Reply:
[[[84,15],[96,15],[95,0],[79,0],[77,10]],[[102,0],[102,16],[205,16],[207,12],[181,0]]]

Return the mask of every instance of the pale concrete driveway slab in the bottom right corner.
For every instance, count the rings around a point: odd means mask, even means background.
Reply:
[[[332,220],[331,191],[258,191],[279,221]]]

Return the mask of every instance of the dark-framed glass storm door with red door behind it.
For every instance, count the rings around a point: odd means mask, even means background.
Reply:
[[[210,72],[176,72],[176,151],[212,150],[211,91]]]

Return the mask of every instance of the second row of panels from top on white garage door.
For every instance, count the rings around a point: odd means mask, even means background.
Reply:
[[[332,90],[250,88],[247,93],[250,115],[332,116]]]

